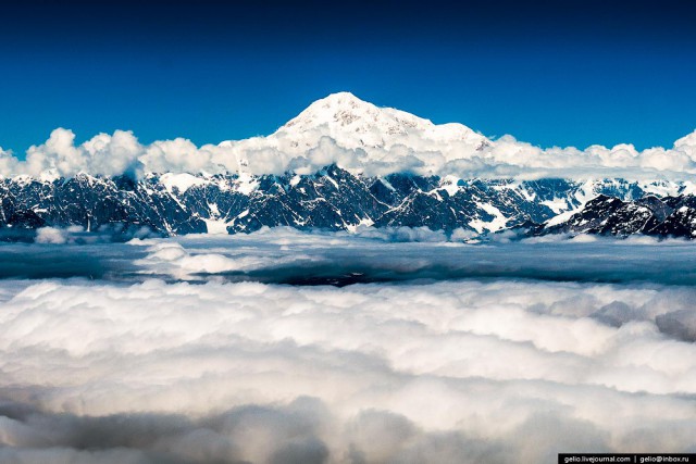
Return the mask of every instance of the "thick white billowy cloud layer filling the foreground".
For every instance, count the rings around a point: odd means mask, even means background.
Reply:
[[[548,462],[559,451],[694,451],[695,347],[649,317],[689,298],[510,281],[36,284],[2,314],[0,457]]]

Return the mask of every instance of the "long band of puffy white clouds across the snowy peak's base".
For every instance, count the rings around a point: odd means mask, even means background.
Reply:
[[[25,162],[0,151],[4,176],[72,176],[78,172],[115,175],[134,173],[312,174],[332,163],[353,173],[383,176],[410,172],[459,177],[624,177],[637,180],[683,180],[696,174],[696,131],[672,148],[638,151],[621,143],[542,149],[512,136],[487,140],[461,125],[409,127],[394,134],[344,134],[321,125],[290,130],[284,126],[268,137],[197,147],[190,140],[138,143],[129,131],[99,134],[76,146],[75,135],[55,129],[40,146],[29,148]],[[442,128],[445,127],[445,128]],[[436,129],[435,129],[436,128]]]

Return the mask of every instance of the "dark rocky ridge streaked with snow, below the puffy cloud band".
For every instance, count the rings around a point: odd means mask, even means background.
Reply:
[[[330,165],[310,175],[148,175],[0,180],[0,229],[146,228],[162,236],[251,233],[263,226],[353,230],[427,227],[471,236],[531,234],[691,237],[689,184],[622,179],[366,177]],[[664,195],[664,193],[668,195]],[[12,236],[12,234],[9,234]],[[8,236],[8,234],[5,234]]]

